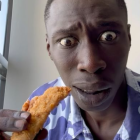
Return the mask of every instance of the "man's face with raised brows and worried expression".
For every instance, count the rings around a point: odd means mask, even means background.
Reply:
[[[54,0],[47,49],[83,110],[105,110],[124,79],[130,49],[125,12],[112,0]]]

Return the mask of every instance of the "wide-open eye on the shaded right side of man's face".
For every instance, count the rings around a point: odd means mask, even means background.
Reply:
[[[114,39],[116,39],[116,37],[117,37],[117,35],[116,35],[115,32],[113,32],[113,31],[107,31],[107,32],[104,32],[104,33],[100,36],[99,40],[100,40],[100,41],[103,41],[103,42],[111,42],[111,41],[113,41]]]

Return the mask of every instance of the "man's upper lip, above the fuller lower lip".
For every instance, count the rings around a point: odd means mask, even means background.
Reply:
[[[73,87],[83,90],[84,92],[94,93],[98,91],[103,91],[111,88],[111,84],[104,81],[99,82],[79,82],[74,83]]]

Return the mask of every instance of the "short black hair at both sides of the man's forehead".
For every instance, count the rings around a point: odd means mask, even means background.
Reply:
[[[54,0],[47,0],[47,4],[46,4],[46,7],[45,7],[45,12],[44,12],[45,22],[49,18],[49,9],[50,9],[51,4],[52,4],[53,1]],[[126,7],[125,0],[116,0],[116,1],[118,3],[119,7],[125,11],[126,17],[127,17],[127,7]]]

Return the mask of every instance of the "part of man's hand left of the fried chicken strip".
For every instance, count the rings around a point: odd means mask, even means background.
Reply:
[[[25,130],[29,117],[30,113],[28,112],[0,109],[0,132]],[[1,134],[1,137],[5,137],[5,140],[8,140],[8,137],[4,133]]]

